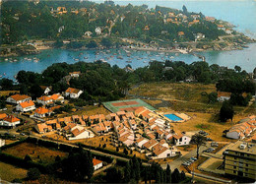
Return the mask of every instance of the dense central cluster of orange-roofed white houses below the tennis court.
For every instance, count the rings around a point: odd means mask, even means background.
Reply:
[[[151,117],[150,114],[154,114],[154,112],[142,107],[135,110],[134,113],[118,111],[108,115],[74,115],[37,124],[35,130],[38,133],[59,130],[68,140],[93,138],[95,134],[103,135],[114,132],[115,135],[112,136],[112,141],[116,143],[115,146],[124,145],[128,148],[136,146],[136,150],[142,153],[147,152],[152,158],[174,156],[176,150],[173,147],[169,149],[168,143],[172,143],[174,146],[189,144],[190,136],[186,134],[177,135],[170,128],[164,129],[167,128],[165,121],[157,117]],[[146,122],[138,117],[149,119]],[[91,124],[90,129],[85,128],[88,122]],[[144,129],[146,138],[138,133],[139,127]]]

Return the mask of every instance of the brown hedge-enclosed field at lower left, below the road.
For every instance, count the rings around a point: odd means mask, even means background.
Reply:
[[[32,143],[22,143],[15,147],[8,148],[3,153],[12,154],[17,157],[24,158],[26,154],[29,154],[34,162],[40,162],[44,164],[52,163],[55,161],[55,157],[59,155],[64,158],[68,156],[68,153],[60,151],[54,151],[45,147],[40,147]]]

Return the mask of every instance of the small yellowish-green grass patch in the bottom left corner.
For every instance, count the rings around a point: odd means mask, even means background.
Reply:
[[[0,178],[6,181],[12,181],[15,178],[25,178],[27,171],[24,168],[19,168],[8,163],[0,162]]]

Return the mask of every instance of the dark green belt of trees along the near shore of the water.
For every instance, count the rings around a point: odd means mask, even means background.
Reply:
[[[79,78],[67,81],[69,73],[74,71],[81,71],[82,74]],[[9,79],[0,80],[1,89],[20,90],[21,93],[38,97],[42,94],[42,90],[39,88],[41,85],[51,86],[52,92],[64,92],[67,88],[72,87],[84,91],[80,96],[81,100],[100,102],[119,99],[138,83],[192,82],[216,84],[218,91],[232,92],[234,104],[242,105],[241,94],[243,92],[254,94],[255,92],[255,84],[251,82],[250,75],[238,66],[228,69],[217,64],[209,66],[206,62],[186,64],[182,61],[168,60],[150,62],[149,66],[138,68],[133,72],[121,69],[117,65],[110,66],[101,61],[75,64],[57,63],[48,67],[41,74],[20,71],[17,80],[19,85],[14,85],[13,81]],[[241,102],[237,102],[236,99]]]

